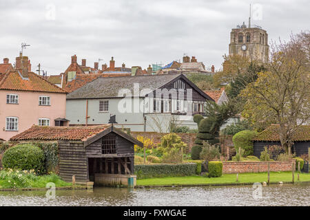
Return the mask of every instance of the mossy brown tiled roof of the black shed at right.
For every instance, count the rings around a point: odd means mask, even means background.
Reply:
[[[267,127],[264,131],[258,133],[256,137],[253,139],[254,141],[272,141],[278,142],[280,141],[279,136],[279,125],[272,124]],[[296,133],[294,133],[293,141],[309,141],[310,140],[310,125],[302,125],[299,126]]]

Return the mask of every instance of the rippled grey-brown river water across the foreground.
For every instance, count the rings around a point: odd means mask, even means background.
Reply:
[[[260,188],[256,188],[259,190]],[[0,192],[0,206],[310,206],[310,184]]]

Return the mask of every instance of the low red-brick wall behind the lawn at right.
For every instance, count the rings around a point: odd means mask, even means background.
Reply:
[[[271,162],[223,162],[223,173],[260,173],[268,171],[291,171],[293,161],[271,161]]]

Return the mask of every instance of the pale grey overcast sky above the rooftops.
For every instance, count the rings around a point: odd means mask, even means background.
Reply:
[[[0,59],[14,63],[25,42],[32,71],[41,63],[49,75],[64,72],[73,54],[91,67],[114,56],[116,67],[144,69],[186,53],[219,69],[231,28],[248,22],[250,2],[252,24],[267,30],[269,41],[309,30],[309,0],[0,0]]]

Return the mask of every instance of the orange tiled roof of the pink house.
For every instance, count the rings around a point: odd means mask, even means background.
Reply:
[[[2,76],[3,75],[3,76]],[[0,89],[17,91],[44,91],[65,94],[66,91],[53,85],[32,72],[28,73],[28,79],[21,78],[17,71],[11,71],[0,75]]]

